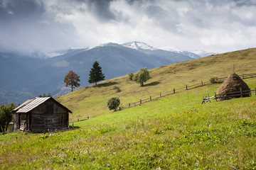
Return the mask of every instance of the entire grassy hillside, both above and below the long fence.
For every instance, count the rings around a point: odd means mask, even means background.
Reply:
[[[255,55],[249,49],[151,69],[152,86],[118,77],[60,96],[74,111],[73,120],[97,117],[67,132],[1,135],[0,169],[255,169],[255,94],[201,104],[202,96],[220,86],[208,84],[124,111],[112,113],[106,106],[110,96],[119,96],[125,105],[186,82],[227,76],[233,64],[238,73],[255,72]],[[244,81],[256,87],[256,78]]]

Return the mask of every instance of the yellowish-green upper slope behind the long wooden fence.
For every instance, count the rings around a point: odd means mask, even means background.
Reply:
[[[208,81],[211,77],[228,77],[233,72],[233,64],[237,74],[256,72],[255,63],[256,49],[228,52],[150,69],[152,79],[146,82],[144,87],[127,81],[127,76],[123,76],[103,81],[97,87],[87,86],[65,96],[59,96],[57,100],[73,111],[73,115],[70,115],[70,122],[73,122],[78,118],[82,120],[87,116],[95,117],[110,113],[107,99],[112,96],[119,97],[122,106],[127,106],[141,98],[159,96],[160,92]],[[113,86],[119,86],[122,91],[117,93]],[[217,89],[214,89],[213,93],[214,91]]]

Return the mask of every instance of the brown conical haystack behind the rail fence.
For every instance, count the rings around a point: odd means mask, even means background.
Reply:
[[[220,98],[220,101],[227,100],[230,98],[239,98],[240,96],[233,96],[235,94],[228,94],[228,93],[240,91],[240,88],[242,88],[242,91],[250,90],[249,86],[247,86],[245,81],[243,81],[238,76],[238,74],[235,74],[235,73],[230,74],[228,79],[226,79],[218,89],[217,93],[223,94],[221,96],[225,97],[225,98]],[[240,92],[238,92],[237,94],[240,94]],[[248,97],[250,96],[250,94],[243,94],[242,96]]]

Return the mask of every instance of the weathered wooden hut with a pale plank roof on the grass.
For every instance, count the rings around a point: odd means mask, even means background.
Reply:
[[[13,110],[14,128],[28,132],[46,132],[67,129],[68,108],[52,97],[34,98],[22,103]]]

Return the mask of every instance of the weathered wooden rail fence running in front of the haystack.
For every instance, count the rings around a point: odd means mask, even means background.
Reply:
[[[231,98],[236,98],[236,97],[244,97],[244,96],[252,96],[252,94],[255,94],[256,96],[256,88],[254,90],[247,90],[247,91],[242,91],[242,88],[240,88],[240,91],[235,91],[235,92],[230,92],[230,93],[227,93],[227,94],[216,94],[215,92],[215,95],[214,96],[209,96],[209,94],[207,94],[206,97],[203,97],[203,101],[202,101],[202,104],[203,103],[207,103],[208,101],[218,101],[218,99],[223,99],[223,100],[228,100],[228,99],[231,99]]]

